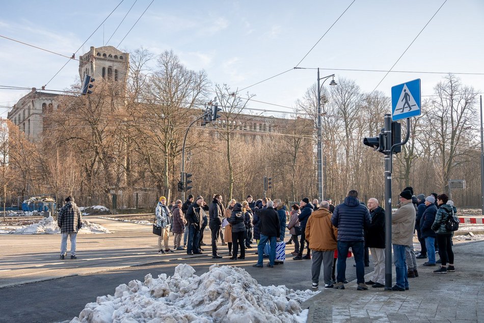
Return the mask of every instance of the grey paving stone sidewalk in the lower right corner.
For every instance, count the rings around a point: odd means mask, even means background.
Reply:
[[[453,251],[453,273],[434,274],[436,267],[417,259],[419,277],[409,279],[405,292],[358,291],[356,281],[344,290],[322,288],[302,304],[309,308],[308,322],[484,322],[484,241],[454,245]]]

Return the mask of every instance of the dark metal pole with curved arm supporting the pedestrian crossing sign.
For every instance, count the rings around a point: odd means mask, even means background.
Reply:
[[[405,145],[410,138],[410,118],[407,118],[407,136],[401,143],[392,146],[392,115],[385,115],[385,290],[392,289],[392,158],[398,146]]]

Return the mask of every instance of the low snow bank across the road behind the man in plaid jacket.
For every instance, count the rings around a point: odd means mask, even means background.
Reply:
[[[44,218],[37,223],[31,225],[24,225],[18,227],[0,227],[0,234],[58,234],[61,229],[52,217]],[[83,220],[83,227],[79,230],[79,234],[92,233],[111,233],[103,226]]]

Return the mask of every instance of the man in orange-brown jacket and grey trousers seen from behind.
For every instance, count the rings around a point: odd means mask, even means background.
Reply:
[[[319,285],[319,273],[321,262],[325,278],[325,288],[333,288],[331,274],[333,272],[334,251],[338,247],[336,237],[338,229],[331,223],[332,213],[329,210],[328,201],[322,201],[319,209],[315,210],[306,224],[306,240],[309,241],[313,251],[311,265],[312,288]]]

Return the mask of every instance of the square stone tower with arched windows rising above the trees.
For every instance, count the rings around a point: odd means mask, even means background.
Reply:
[[[94,47],[79,57],[79,76],[88,74],[97,79],[108,79],[126,85],[129,69],[129,53],[113,46]]]

